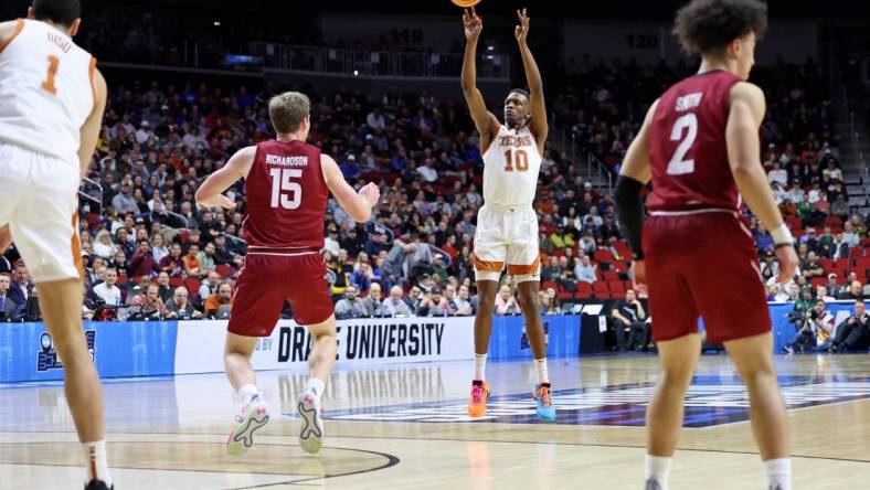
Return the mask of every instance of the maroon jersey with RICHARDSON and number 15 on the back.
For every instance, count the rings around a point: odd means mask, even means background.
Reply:
[[[244,238],[251,253],[294,253],[323,247],[329,190],[320,149],[304,141],[257,145],[245,180]]]

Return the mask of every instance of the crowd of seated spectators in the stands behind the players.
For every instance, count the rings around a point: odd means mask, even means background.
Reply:
[[[549,100],[566,140],[554,131],[548,142],[534,204],[547,313],[571,312],[585,299],[625,300],[632,289],[613,196],[584,179],[585,158],[579,164],[560,149],[573,135],[579,155],[618,171],[649,102],[688,73],[686,66],[588,60],[565,71],[566,83],[553,86]],[[794,280],[776,285],[770,235],[746,216],[771,300],[863,297],[867,216],[848,205],[820,72],[807,62],[760,68],[757,76],[768,100],[763,161],[802,258]],[[322,256],[337,316],[474,315],[471,249],[482,169],[465,105],[425,92],[379,98],[306,92],[312,102],[309,142],[332,156],[350,182],[376,182],[382,193],[376,217],[365,225],[329,203]],[[244,187],[227,193],[238,204],[232,212],[200,209],[193,194],[234,151],[272,137],[267,96],[244,86],[226,92],[158,82],[140,90],[118,86],[109,95],[88,174],[99,188],[83,188],[91,199],[79,210],[83,315],[226,317],[246,252]],[[0,275],[6,318],[36,318],[35,291],[14,248],[0,270],[9,273]],[[497,313],[520,313],[509,277],[498,299]],[[648,321],[639,315],[626,320],[628,338],[647,337]]]

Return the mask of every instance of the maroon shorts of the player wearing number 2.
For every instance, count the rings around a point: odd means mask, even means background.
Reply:
[[[650,214],[644,255],[656,341],[698,332],[699,316],[710,343],[771,330],[754,239],[736,214]]]

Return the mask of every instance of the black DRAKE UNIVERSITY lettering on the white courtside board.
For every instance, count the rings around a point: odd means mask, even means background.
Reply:
[[[389,320],[385,320],[389,321]],[[443,322],[386,322],[338,328],[338,358],[421,358],[442,353]],[[282,327],[278,362],[307,361],[311,337],[304,327]]]

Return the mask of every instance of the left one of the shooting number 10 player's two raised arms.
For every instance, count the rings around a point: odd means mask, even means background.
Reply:
[[[484,30],[484,23],[477,17],[475,9],[466,10],[463,13],[463,24],[465,25],[465,58],[463,61],[463,94],[465,94],[465,102],[468,104],[468,110],[471,113],[471,119],[475,121],[475,127],[480,134],[480,147],[486,148],[496,135],[495,128],[499,122],[496,116],[487,110],[484,96],[477,89],[477,41],[480,39],[480,31]]]

